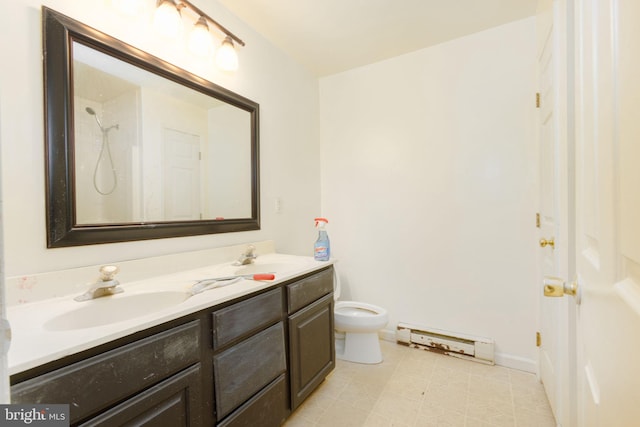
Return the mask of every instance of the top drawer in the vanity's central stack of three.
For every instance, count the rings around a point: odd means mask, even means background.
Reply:
[[[273,289],[213,312],[214,350],[282,319],[282,290]]]

